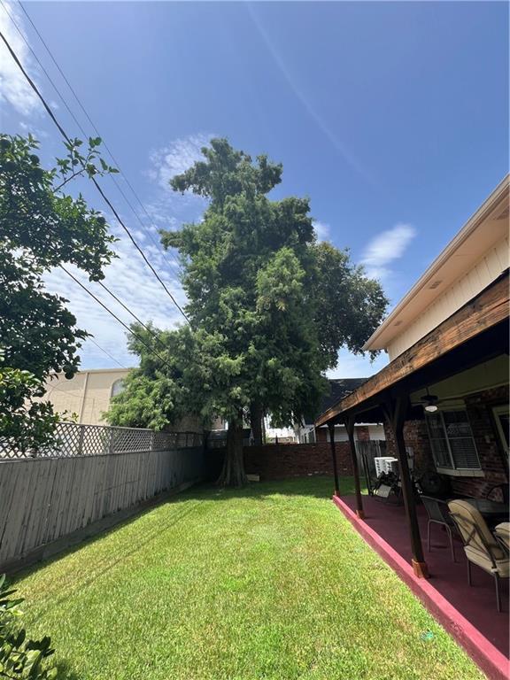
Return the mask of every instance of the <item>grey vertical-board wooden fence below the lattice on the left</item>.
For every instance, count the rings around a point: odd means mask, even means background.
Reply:
[[[0,572],[57,553],[204,475],[202,447],[0,460]]]

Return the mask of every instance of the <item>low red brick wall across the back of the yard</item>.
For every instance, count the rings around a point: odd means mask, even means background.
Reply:
[[[349,444],[336,442],[340,476],[352,475]],[[266,444],[245,446],[244,465],[248,475],[261,480],[306,475],[333,475],[330,444]]]

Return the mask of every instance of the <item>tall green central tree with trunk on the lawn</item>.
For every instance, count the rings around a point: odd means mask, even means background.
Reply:
[[[158,334],[169,358],[159,367],[149,369],[146,349],[131,343],[142,365],[109,417],[128,424],[135,396],[143,392],[146,405],[155,404],[161,391],[153,383],[170,380],[163,420],[181,413],[174,399],[205,419],[228,420],[222,482],[240,484],[243,414],[271,413],[284,425],[316,412],[324,372],[341,346],[361,351],[387,300],[348,251],[317,242],[307,198],[268,196],[282,180],[281,165],[264,155],[252,160],[225,139],[202,153],[205,160],[170,183],[209,199],[203,219],[161,234],[182,257],[190,327]]]

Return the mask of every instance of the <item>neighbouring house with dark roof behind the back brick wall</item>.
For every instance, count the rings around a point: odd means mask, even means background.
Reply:
[[[337,401],[347,397],[354,390],[357,390],[363,383],[366,383],[368,378],[331,378],[329,383],[329,394],[322,399],[321,413],[328,410],[330,406],[336,404]],[[314,442],[328,442],[329,431],[328,426],[323,425],[316,428],[313,419],[306,419],[303,425],[296,425],[294,428],[298,442],[301,444],[311,444]],[[356,423],[354,427],[354,437],[358,441],[374,441],[384,440],[384,428],[382,423]],[[335,424],[335,441],[346,442],[349,440],[345,426]]]

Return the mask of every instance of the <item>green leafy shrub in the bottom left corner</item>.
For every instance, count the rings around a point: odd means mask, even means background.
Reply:
[[[5,575],[0,576],[0,678],[53,680],[57,668],[46,662],[55,652],[51,640],[27,638],[27,631],[17,624],[23,599],[13,599],[15,592],[5,582]]]

